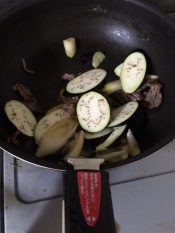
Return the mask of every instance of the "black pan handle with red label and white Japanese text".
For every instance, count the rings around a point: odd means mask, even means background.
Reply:
[[[116,233],[107,172],[64,172],[63,187],[65,233]]]

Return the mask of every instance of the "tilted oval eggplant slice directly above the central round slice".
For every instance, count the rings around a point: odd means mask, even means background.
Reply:
[[[66,90],[72,94],[84,93],[92,88],[96,87],[105,78],[106,71],[102,69],[89,70],[83,74],[80,74],[73,80],[71,80]]]

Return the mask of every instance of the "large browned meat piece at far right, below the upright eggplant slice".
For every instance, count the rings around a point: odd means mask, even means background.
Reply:
[[[117,91],[113,98],[121,104],[129,101],[137,101],[149,109],[158,107],[162,102],[162,85],[157,80],[148,80],[132,94]]]

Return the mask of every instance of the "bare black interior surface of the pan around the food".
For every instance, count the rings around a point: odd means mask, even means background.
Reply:
[[[175,136],[175,24],[163,12],[140,0],[131,1],[38,1],[25,2],[0,24],[0,147],[14,156],[50,169],[70,166],[56,163],[54,157],[37,158],[35,148],[8,144],[4,105],[21,100],[12,90],[16,83],[28,87],[43,111],[56,104],[59,90],[65,86],[64,73],[88,70],[80,62],[83,53],[103,51],[106,59],[100,68],[108,72],[107,81],[115,80],[114,68],[133,50],[148,57],[147,73],[159,75],[163,84],[163,103],[148,111],[149,123],[137,136],[141,154],[108,163],[112,169],[145,158],[161,149]],[[65,55],[63,39],[75,37],[77,53]],[[25,58],[29,74],[22,68]],[[41,116],[38,114],[37,118]]]

